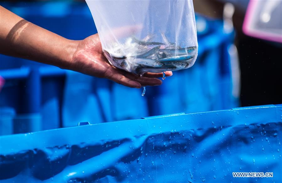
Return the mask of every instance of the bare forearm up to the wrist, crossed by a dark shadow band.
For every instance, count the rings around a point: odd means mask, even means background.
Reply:
[[[69,69],[78,41],[36,26],[0,6],[0,53]]]

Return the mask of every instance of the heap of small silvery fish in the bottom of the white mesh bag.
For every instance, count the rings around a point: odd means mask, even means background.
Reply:
[[[177,71],[193,66],[197,45],[181,48],[169,43],[164,34],[162,36],[163,43],[149,41],[149,36],[142,40],[128,38],[125,44],[113,45],[112,49],[103,49],[103,52],[112,65],[135,74]]]

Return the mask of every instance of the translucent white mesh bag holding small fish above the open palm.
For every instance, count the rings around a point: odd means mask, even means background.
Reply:
[[[143,74],[191,67],[198,54],[192,0],[86,0],[105,57],[117,68]]]

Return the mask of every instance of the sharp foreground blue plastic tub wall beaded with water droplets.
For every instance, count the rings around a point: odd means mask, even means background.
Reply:
[[[282,105],[84,125],[0,142],[5,183],[282,182]]]

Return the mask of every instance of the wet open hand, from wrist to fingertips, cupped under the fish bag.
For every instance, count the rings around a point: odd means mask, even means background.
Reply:
[[[69,69],[99,77],[107,78],[116,83],[132,88],[141,86],[157,86],[162,84],[162,73],[145,73],[143,77],[137,76],[117,69],[105,58],[98,34],[94,34],[82,41],[76,41],[77,49],[72,55]],[[167,71],[166,76],[171,76],[172,72]]]

